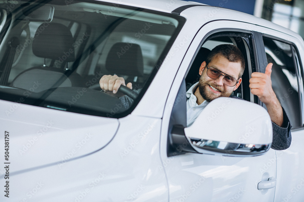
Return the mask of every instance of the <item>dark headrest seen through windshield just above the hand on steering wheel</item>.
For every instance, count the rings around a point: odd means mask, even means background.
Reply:
[[[105,61],[105,68],[118,75],[143,75],[143,56],[140,46],[122,42],[114,44]]]

